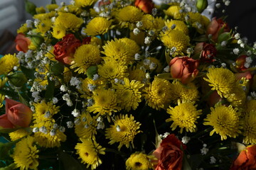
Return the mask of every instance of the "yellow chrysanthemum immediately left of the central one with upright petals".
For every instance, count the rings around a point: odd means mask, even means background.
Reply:
[[[87,111],[100,115],[112,115],[112,112],[120,110],[117,106],[117,94],[111,89],[96,89],[93,91],[92,99],[94,104],[87,107]]]

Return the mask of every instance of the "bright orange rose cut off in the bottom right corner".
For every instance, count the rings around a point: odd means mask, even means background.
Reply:
[[[250,145],[242,150],[230,168],[230,170],[253,169],[256,169],[256,145]]]

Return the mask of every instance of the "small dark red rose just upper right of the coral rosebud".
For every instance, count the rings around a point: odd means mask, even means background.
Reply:
[[[214,62],[214,57],[216,56],[217,50],[213,44],[200,42],[196,45],[195,52],[201,53],[200,60],[202,62]]]

